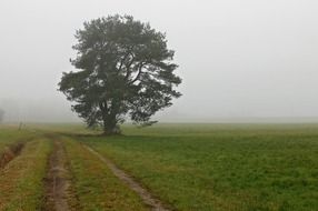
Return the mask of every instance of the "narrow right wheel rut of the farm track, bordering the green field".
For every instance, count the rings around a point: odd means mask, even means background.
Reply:
[[[112,161],[102,157],[97,151],[91,149],[88,145],[83,147],[88,149],[91,153],[97,155],[103,163],[108,165],[108,168],[112,171],[112,173],[118,177],[121,181],[123,181],[131,190],[133,190],[139,197],[143,200],[143,202],[151,208],[152,211],[169,211],[167,208],[162,205],[162,202],[156,199],[148,190],[142,188],[137,181],[135,181],[129,174],[127,174],[123,170],[119,169]]]

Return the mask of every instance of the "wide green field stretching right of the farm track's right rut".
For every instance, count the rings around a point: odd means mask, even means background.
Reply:
[[[85,138],[178,210],[315,210],[318,125],[126,128]]]

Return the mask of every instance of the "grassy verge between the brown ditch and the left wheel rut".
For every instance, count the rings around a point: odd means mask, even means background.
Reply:
[[[30,141],[21,154],[0,170],[0,210],[40,210],[50,142]]]

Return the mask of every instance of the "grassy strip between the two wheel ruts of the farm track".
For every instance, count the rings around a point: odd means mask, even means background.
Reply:
[[[148,210],[132,190],[78,141],[63,138],[63,143],[70,159],[70,169],[74,177],[73,187],[81,210]]]

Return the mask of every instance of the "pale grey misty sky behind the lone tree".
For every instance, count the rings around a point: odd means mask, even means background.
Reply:
[[[131,14],[167,32],[183,97],[161,120],[318,117],[317,0],[2,0],[0,108],[19,121],[73,121],[57,91],[74,31]]]

